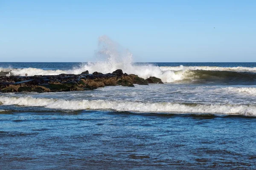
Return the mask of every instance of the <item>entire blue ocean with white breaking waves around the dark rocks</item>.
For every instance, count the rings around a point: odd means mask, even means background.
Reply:
[[[256,169],[256,62],[0,62],[14,76],[116,69],[164,84],[0,93],[0,169]]]

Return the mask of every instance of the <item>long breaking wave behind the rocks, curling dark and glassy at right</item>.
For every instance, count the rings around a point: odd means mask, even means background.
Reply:
[[[0,71],[6,72],[9,70],[11,75],[15,76],[28,76],[34,75],[58,75],[58,74],[81,74],[81,72],[88,70],[90,73],[94,71],[102,72],[104,74],[113,72],[116,69],[121,68],[128,74],[137,74],[139,77],[147,79],[154,76],[162,79],[163,82],[217,82],[227,84],[241,84],[241,85],[254,85],[256,84],[256,73],[254,72],[237,72],[226,71],[228,68],[218,68],[220,70],[210,70],[210,67],[206,67],[208,70],[203,70],[204,67],[196,69],[197,67],[184,68],[179,67],[158,67],[153,65],[130,65],[125,66],[122,63],[115,65],[115,67],[104,66],[104,63],[86,63],[81,65],[80,68],[74,68],[72,70],[43,70],[39,68],[0,68]],[[215,67],[214,67],[215,68]],[[205,68],[204,68],[205,69]],[[217,68],[216,68],[217,69]],[[226,69],[226,70],[225,70]]]

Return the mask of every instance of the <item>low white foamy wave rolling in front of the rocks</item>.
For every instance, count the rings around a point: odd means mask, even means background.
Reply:
[[[107,100],[64,100],[32,97],[0,96],[3,105],[40,106],[63,110],[115,110],[134,112],[221,113],[227,115],[256,116],[254,105],[186,104],[172,102],[128,102]]]

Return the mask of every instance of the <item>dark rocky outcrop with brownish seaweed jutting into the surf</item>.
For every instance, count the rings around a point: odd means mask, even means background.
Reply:
[[[134,74],[123,73],[116,70],[113,73],[102,74],[94,72],[89,74],[84,71],[82,74],[60,74],[51,76],[0,76],[0,92],[59,92],[59,91],[86,91],[104,86],[128,86],[134,84],[148,85],[149,83],[160,83],[161,79],[156,77],[148,81]],[[160,81],[159,81],[160,80]],[[163,82],[162,82],[163,83]]]

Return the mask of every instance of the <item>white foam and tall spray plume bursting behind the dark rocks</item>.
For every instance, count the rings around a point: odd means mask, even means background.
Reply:
[[[184,71],[183,67],[177,70],[166,70],[151,64],[134,65],[132,63],[133,54],[123,48],[118,43],[112,41],[107,36],[99,37],[98,50],[96,51],[96,62],[87,62],[81,64],[79,68],[72,70],[43,70],[38,68],[18,68],[12,69],[12,75],[28,76],[34,75],[58,75],[58,74],[81,74],[81,72],[88,70],[89,73],[95,71],[103,74],[112,73],[117,69],[122,69],[127,74],[137,74],[139,77],[147,79],[151,76],[162,79],[163,82],[173,82],[180,80]],[[180,71],[181,70],[181,71]]]

